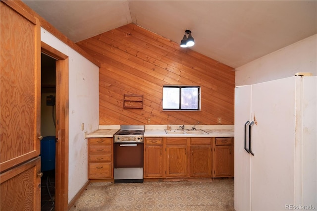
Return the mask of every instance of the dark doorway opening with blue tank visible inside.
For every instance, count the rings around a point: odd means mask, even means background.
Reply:
[[[41,210],[55,204],[56,59],[41,53]]]

